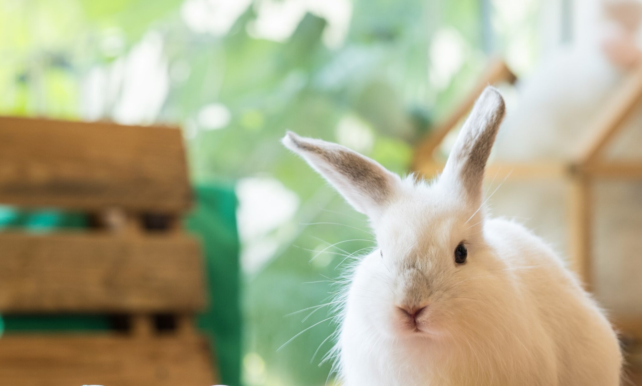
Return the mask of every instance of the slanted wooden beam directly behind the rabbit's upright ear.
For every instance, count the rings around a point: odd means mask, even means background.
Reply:
[[[508,69],[506,63],[498,58],[490,61],[489,67],[482,74],[478,82],[474,85],[473,89],[467,96],[464,98],[464,101],[456,106],[455,111],[453,111],[444,122],[441,122],[431,132],[428,134],[424,140],[422,140],[419,145],[415,148],[415,156],[413,160],[412,169],[417,171],[422,168],[423,164],[428,164],[433,159],[433,151],[441,144],[442,140],[446,135],[453,130],[457,122],[461,121],[464,118],[473,105],[477,98],[482,94],[484,88],[488,85],[494,85],[501,81],[508,81],[509,83],[514,83],[516,81],[516,76],[513,74],[510,69]]]

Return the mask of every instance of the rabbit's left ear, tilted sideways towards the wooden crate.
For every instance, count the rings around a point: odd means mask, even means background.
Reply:
[[[396,174],[347,147],[299,137],[288,131],[283,144],[300,155],[359,212],[376,219],[401,183]]]

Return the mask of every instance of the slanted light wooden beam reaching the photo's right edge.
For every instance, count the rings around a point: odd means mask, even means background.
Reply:
[[[586,144],[580,147],[577,156],[579,165],[588,165],[596,162],[602,149],[620,131],[622,123],[630,112],[642,99],[642,64],[632,71],[620,87],[609,98],[602,113],[594,120],[594,124],[587,128],[591,133]]]

